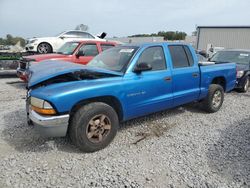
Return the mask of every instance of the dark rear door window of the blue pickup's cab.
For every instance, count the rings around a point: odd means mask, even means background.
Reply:
[[[178,46],[178,45],[169,46],[169,51],[171,54],[174,68],[189,66],[187,55],[183,46]]]

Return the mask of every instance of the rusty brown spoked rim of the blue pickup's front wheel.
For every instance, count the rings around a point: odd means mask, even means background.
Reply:
[[[108,136],[111,131],[111,121],[104,115],[94,116],[88,123],[86,134],[89,141],[100,143]]]

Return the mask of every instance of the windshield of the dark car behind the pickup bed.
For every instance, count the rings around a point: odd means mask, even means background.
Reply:
[[[250,52],[245,51],[219,51],[211,58],[214,62],[229,62],[236,64],[249,64]]]

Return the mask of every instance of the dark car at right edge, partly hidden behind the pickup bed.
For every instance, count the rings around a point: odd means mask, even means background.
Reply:
[[[228,49],[218,51],[210,61],[236,63],[237,81],[235,88],[241,92],[247,92],[250,85],[250,50]]]

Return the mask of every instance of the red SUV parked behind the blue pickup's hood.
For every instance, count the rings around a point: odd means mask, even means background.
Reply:
[[[23,57],[17,68],[17,76],[22,80],[27,81],[29,75],[29,65],[39,63],[44,60],[63,60],[85,65],[102,51],[116,45],[117,43],[108,41],[67,42],[56,53]]]

